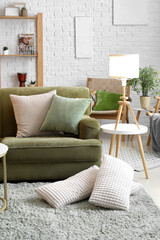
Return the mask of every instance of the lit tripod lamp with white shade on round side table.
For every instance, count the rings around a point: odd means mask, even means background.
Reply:
[[[130,102],[127,101],[125,96],[125,88],[127,80],[131,78],[139,77],[139,54],[128,54],[128,55],[110,55],[109,56],[109,77],[116,78],[122,81],[122,92],[123,95],[120,97],[121,101],[118,102],[119,110],[117,114],[115,130],[117,129],[119,120],[121,118],[123,108],[128,108],[132,118],[139,128],[137,119],[131,108]]]

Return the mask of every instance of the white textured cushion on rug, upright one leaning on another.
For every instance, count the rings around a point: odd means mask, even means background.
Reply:
[[[104,155],[89,202],[105,208],[129,210],[133,172],[129,164]]]

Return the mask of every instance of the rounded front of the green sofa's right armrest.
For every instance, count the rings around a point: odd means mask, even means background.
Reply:
[[[79,123],[80,139],[99,139],[100,124],[95,118],[84,115]]]

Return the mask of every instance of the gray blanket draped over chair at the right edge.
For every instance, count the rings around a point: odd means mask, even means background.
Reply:
[[[152,150],[156,157],[160,157],[160,114],[154,113],[150,120],[150,134]]]

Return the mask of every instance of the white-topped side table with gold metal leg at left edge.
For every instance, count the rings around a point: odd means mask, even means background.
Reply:
[[[8,147],[5,144],[0,143],[0,158],[2,158],[2,162],[3,162],[3,181],[4,181],[4,198],[0,197],[0,200],[3,201],[3,207],[0,208],[0,213],[8,208],[8,203],[7,203],[7,168],[6,168],[6,154],[7,154],[7,151],[8,151]]]

